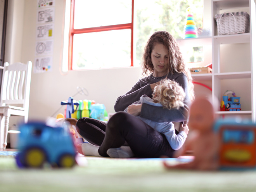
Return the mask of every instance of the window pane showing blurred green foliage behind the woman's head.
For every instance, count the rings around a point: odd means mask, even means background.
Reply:
[[[146,4],[142,0],[135,2],[137,8],[135,65],[140,64],[147,40],[155,31],[168,31],[176,39],[184,37],[188,7],[192,10],[196,27],[202,27],[203,0],[147,0]]]

